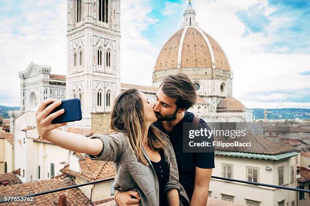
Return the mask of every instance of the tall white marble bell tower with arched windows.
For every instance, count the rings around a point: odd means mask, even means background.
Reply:
[[[67,1],[67,98],[80,98],[83,120],[110,112],[121,90],[120,0]]]

